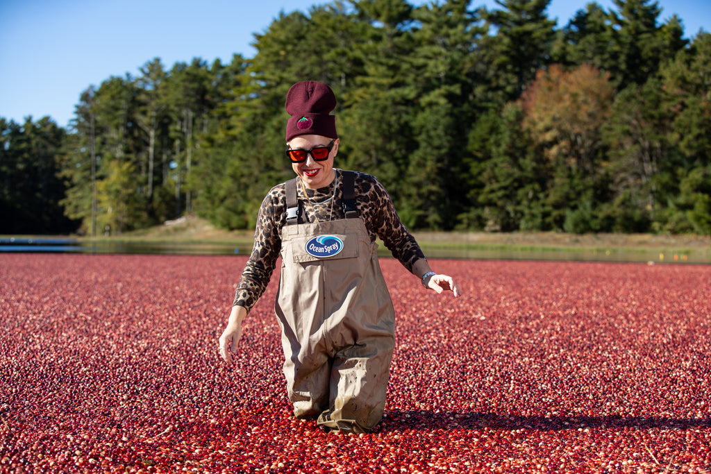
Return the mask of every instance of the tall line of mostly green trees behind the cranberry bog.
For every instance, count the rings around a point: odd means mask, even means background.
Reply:
[[[282,11],[254,58],[159,58],[82,92],[70,129],[0,119],[4,232],[254,227],[293,175],[284,97],[336,92],[335,166],[412,229],[711,234],[711,35],[656,1],[336,0]]]

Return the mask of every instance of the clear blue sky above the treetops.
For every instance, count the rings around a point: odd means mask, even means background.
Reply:
[[[45,115],[68,125],[79,96],[111,76],[138,75],[161,58],[166,69],[199,57],[252,58],[253,33],[279,11],[309,11],[318,0],[0,0],[0,117],[23,123]],[[427,1],[410,1],[419,5]],[[548,16],[565,26],[587,0],[552,0]],[[598,0],[609,9],[611,0]],[[691,38],[711,31],[711,1],[658,0],[660,21],[677,14]],[[472,7],[495,6],[474,0]]]

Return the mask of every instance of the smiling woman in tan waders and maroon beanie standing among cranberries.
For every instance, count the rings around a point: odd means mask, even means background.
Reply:
[[[363,433],[383,416],[395,311],[376,249],[380,237],[427,289],[461,291],[435,274],[397,217],[385,188],[365,173],[333,168],[336,97],[315,81],[287,94],[287,156],[296,178],[269,191],[255,247],[242,271],[220,355],[232,362],[242,321],[282,257],[274,306],[282,328],[284,375],[294,415],[324,429]]]

